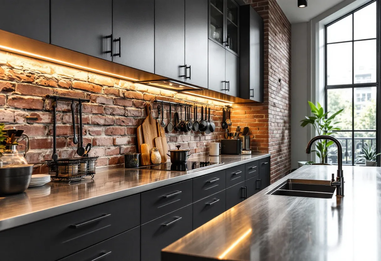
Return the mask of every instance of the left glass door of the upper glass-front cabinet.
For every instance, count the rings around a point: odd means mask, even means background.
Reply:
[[[210,38],[224,42],[224,0],[210,0]]]

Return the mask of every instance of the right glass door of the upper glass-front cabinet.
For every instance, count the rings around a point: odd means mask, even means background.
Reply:
[[[238,21],[239,11],[237,4],[232,0],[227,0],[226,8],[226,47],[238,53]]]

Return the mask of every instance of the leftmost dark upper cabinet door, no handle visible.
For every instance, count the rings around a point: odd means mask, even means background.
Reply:
[[[49,0],[2,0],[0,29],[49,43]]]

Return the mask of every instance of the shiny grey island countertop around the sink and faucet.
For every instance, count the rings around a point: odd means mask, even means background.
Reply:
[[[290,178],[330,180],[336,169],[303,166],[163,251],[178,254],[171,260],[379,261],[381,168],[344,166],[341,200],[336,193],[332,199],[265,194]]]

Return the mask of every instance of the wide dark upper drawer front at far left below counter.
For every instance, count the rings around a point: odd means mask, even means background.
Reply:
[[[4,260],[57,260],[139,225],[138,194],[0,232],[0,252]]]

